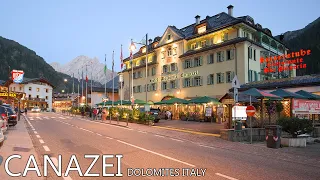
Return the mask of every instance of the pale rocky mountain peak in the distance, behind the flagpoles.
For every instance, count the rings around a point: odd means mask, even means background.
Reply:
[[[107,69],[107,76],[104,74],[104,64],[100,63],[99,59],[94,57],[90,58],[87,56],[78,56],[72,61],[61,65],[57,62],[51,63],[51,66],[58,72],[68,74],[72,76],[74,74],[74,77],[78,78],[80,73],[83,71],[84,78],[86,77],[86,66],[87,66],[87,75],[88,79],[92,79],[104,84],[105,82],[108,82],[112,79],[112,71],[110,69]],[[91,76],[92,73],[92,76]],[[117,76],[117,73],[114,73],[114,77]]]

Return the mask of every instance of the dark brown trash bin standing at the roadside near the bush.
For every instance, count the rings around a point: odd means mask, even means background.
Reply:
[[[282,127],[279,125],[266,126],[266,141],[268,148],[280,148]]]

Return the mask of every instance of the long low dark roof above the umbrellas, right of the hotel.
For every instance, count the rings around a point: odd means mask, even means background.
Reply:
[[[303,86],[315,86],[315,85],[317,86],[320,85],[320,74],[256,81],[256,82],[251,82],[251,83],[241,85],[239,90],[243,91],[250,88],[275,89],[275,88],[303,87]]]

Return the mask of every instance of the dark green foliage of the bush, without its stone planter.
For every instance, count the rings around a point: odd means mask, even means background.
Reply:
[[[282,130],[296,138],[299,134],[312,132],[312,121],[299,118],[280,118],[277,122],[282,126]]]

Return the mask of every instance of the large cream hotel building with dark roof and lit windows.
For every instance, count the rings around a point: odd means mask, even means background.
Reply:
[[[130,99],[133,90],[134,99],[147,97],[153,102],[166,97],[221,97],[232,87],[235,75],[241,84],[295,76],[295,70],[268,74],[263,71],[266,64],[260,63],[260,57],[286,52],[285,45],[268,28],[250,16],[234,17],[230,5],[228,13],[202,20],[196,16],[195,23],[184,28],[168,26],[161,37],[148,41],[147,61],[146,46],[132,60],[124,59],[120,91],[123,90],[124,99]]]

